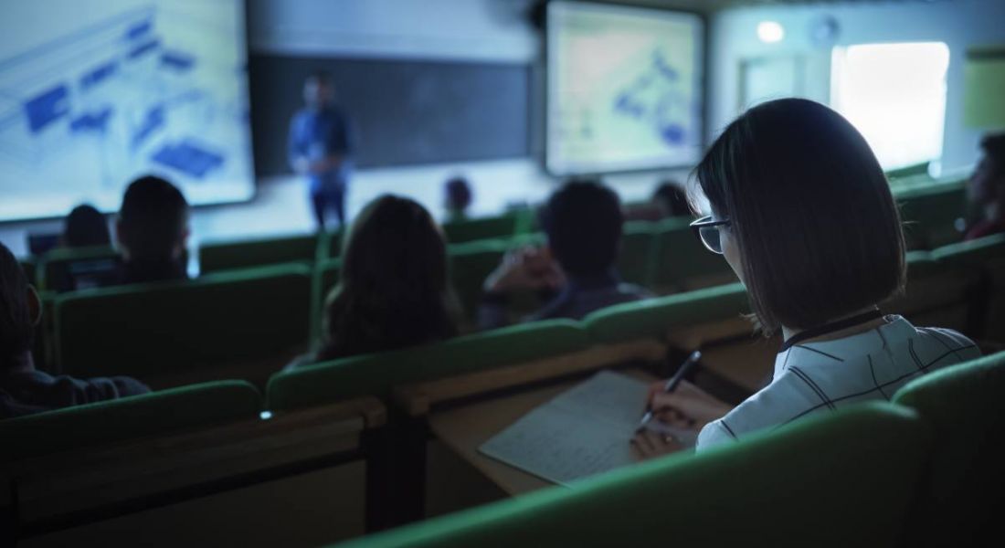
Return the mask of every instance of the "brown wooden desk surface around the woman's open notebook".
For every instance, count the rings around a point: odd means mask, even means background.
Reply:
[[[656,380],[652,375],[637,369],[624,373],[646,382]],[[434,411],[428,417],[429,428],[444,445],[473,466],[508,495],[522,495],[552,487],[555,484],[481,454],[478,452],[478,447],[520,417],[580,382],[583,380],[563,382],[444,411]]]

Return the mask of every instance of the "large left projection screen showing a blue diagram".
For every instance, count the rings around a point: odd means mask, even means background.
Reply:
[[[169,176],[196,203],[247,193],[226,188],[251,180],[243,21],[228,20],[240,13],[236,4],[93,4],[108,13],[79,25],[60,21],[68,30],[0,51],[5,194],[28,200],[29,191],[62,189],[114,204],[147,172]],[[212,192],[197,189],[221,181]]]

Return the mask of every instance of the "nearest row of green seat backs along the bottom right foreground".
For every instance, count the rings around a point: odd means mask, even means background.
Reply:
[[[1005,353],[870,403],[365,537],[347,548],[971,546],[1005,502]]]

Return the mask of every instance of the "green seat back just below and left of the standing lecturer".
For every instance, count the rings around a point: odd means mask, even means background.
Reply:
[[[199,271],[210,273],[280,262],[314,262],[317,252],[316,234],[207,242],[199,245]]]

